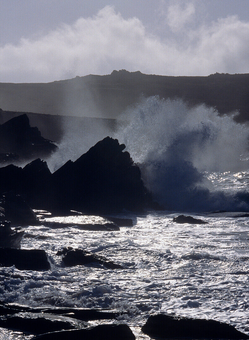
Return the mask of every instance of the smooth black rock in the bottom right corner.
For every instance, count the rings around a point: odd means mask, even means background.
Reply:
[[[150,337],[164,339],[249,339],[248,335],[223,322],[167,314],[151,315],[142,331]]]

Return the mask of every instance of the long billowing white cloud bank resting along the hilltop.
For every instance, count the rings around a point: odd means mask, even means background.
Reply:
[[[248,72],[249,23],[230,16],[162,41],[106,6],[36,39],[0,47],[1,82],[49,82],[113,69],[163,75]]]

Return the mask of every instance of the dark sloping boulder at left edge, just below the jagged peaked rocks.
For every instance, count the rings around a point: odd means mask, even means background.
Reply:
[[[11,226],[39,225],[34,211],[23,201],[20,195],[13,191],[5,192],[2,195],[1,207],[4,209],[5,221],[10,221]]]

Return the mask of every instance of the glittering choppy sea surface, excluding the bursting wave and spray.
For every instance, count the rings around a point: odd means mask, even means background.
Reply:
[[[249,172],[213,173],[210,179],[218,188],[237,190],[248,188]],[[128,311],[120,320],[130,326],[163,311],[229,322],[249,334],[249,218],[233,217],[236,212],[192,213],[209,224],[172,222],[180,213],[123,215],[133,218],[134,226],[115,232],[30,226],[27,232],[39,237],[23,238],[22,248],[46,250],[52,268],[1,268],[1,299],[30,306],[117,308]],[[64,268],[55,256],[64,245],[99,253],[128,269]]]

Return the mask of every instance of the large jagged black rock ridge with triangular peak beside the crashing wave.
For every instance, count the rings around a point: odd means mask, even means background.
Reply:
[[[106,137],[53,174],[39,158],[23,169],[2,167],[0,193],[14,190],[31,208],[57,214],[70,210],[110,214],[123,209],[158,208],[141,180],[139,167],[124,149],[117,139]]]

